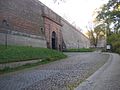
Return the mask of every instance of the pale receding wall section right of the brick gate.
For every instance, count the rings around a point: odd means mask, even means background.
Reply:
[[[66,20],[61,21],[62,35],[65,42],[66,48],[88,48],[90,47],[89,39],[73,27]]]

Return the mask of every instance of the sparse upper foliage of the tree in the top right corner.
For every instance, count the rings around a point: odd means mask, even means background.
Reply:
[[[120,30],[120,0],[109,0],[107,4],[104,4],[99,11],[96,19],[102,21],[107,25],[108,35],[111,34],[111,30],[115,33],[119,33]],[[110,26],[113,26],[111,28]]]

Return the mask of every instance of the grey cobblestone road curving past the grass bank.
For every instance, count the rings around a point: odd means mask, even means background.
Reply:
[[[100,68],[107,54],[66,53],[67,59],[0,75],[0,90],[69,90]]]

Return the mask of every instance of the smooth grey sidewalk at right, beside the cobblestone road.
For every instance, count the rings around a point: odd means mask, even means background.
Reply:
[[[110,60],[75,90],[120,90],[120,55],[111,53]]]

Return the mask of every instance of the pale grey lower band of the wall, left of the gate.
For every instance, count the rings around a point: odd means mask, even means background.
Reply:
[[[7,41],[6,41],[7,40]],[[46,48],[46,41],[42,39],[36,39],[20,35],[12,35],[0,33],[0,44],[5,45],[22,45],[22,46],[32,46],[32,47],[44,47]]]

